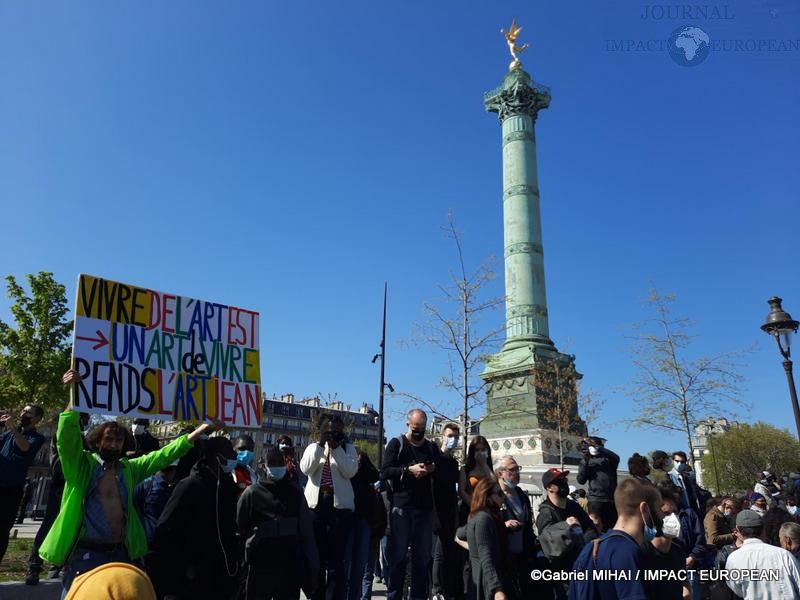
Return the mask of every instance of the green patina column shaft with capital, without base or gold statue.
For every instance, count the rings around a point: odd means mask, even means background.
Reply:
[[[547,323],[542,219],[534,123],[550,105],[550,91],[517,67],[486,94],[503,130],[503,221],[506,283],[505,350],[553,347]]]

